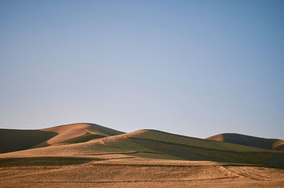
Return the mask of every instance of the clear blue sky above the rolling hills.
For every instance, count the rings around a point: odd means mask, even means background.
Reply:
[[[284,1],[0,1],[0,128],[284,138]]]

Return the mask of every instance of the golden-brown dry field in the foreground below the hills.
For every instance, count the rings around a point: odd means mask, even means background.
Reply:
[[[284,187],[284,170],[125,158],[82,165],[1,167],[0,187]]]

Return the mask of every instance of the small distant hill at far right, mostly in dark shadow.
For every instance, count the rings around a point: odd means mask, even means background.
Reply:
[[[236,143],[239,145],[246,145],[255,148],[263,148],[263,149],[280,149],[284,144],[284,140],[279,139],[268,139],[268,138],[258,138],[254,136],[246,136],[236,133],[223,133],[215,136],[210,136],[205,138],[207,140],[215,140],[226,143]]]

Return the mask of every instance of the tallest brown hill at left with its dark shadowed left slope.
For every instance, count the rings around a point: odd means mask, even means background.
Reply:
[[[81,143],[124,132],[92,123],[74,123],[40,130],[0,129],[0,153]]]

